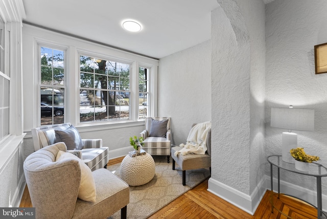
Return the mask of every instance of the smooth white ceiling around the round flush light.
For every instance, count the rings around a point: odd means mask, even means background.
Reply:
[[[211,38],[216,0],[23,0],[25,23],[162,58]],[[141,32],[122,28],[138,20]]]

